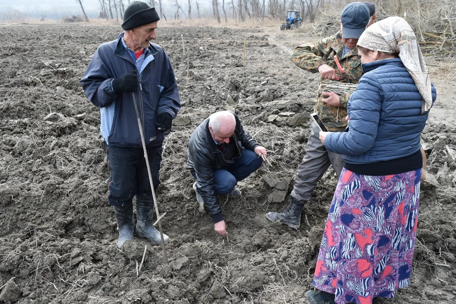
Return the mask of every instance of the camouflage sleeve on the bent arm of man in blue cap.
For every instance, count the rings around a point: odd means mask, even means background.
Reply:
[[[296,46],[291,53],[291,61],[301,69],[316,73],[318,67],[326,64],[325,51],[327,51],[328,38]]]

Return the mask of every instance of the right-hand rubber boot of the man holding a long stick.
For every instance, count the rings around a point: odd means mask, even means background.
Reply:
[[[135,197],[136,205],[136,235],[148,239],[154,244],[161,244],[160,231],[154,227],[154,203],[148,200],[141,200]],[[170,238],[163,233],[165,243],[170,241]]]

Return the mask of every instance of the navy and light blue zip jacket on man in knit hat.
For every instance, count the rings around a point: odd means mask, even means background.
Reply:
[[[136,69],[130,52],[122,45],[122,36],[98,47],[81,84],[88,99],[100,108],[101,135],[106,143],[142,147],[133,97],[131,93],[114,93],[111,85],[113,78]],[[145,143],[147,147],[160,146],[164,136],[155,127],[157,116],[168,113],[174,119],[181,108],[176,78],[166,52],[150,43],[138,74],[140,90],[135,94]]]

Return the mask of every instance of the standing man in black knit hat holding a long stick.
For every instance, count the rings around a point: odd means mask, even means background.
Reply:
[[[119,38],[98,47],[81,84],[101,111],[101,135],[106,143],[108,203],[119,229],[118,247],[136,235],[153,243],[161,237],[153,226],[154,202],[135,114],[137,103],[154,188],[160,184],[162,142],[181,108],[176,78],[163,49],[151,43],[160,20],[155,7],[133,1],[124,12]],[[135,100],[132,96],[135,95]],[[164,235],[165,242],[169,237]]]

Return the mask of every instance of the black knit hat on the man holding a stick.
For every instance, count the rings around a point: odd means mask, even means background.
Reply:
[[[133,1],[125,9],[122,28],[124,31],[127,31],[159,20],[160,17],[155,7],[150,7],[150,5],[143,1]]]

